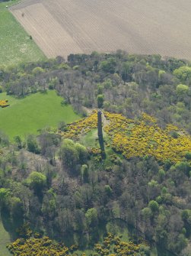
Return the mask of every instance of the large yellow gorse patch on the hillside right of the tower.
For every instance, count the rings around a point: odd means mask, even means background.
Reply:
[[[138,122],[119,114],[104,112],[104,115],[110,121],[104,130],[109,134],[113,148],[128,159],[150,155],[157,160],[177,163],[186,152],[191,152],[191,136],[174,125],[167,125],[163,130],[145,113]],[[177,131],[177,138],[170,135],[171,131]]]

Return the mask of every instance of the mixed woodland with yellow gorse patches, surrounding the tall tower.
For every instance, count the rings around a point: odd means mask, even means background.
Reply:
[[[21,99],[48,90],[81,118],[13,140],[0,132],[8,250],[189,256],[191,63],[117,50],[0,67],[0,92]]]

